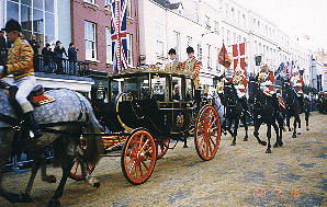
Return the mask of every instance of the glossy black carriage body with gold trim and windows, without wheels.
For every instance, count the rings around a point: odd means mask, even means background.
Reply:
[[[137,72],[111,76],[108,111],[114,118],[110,130],[145,127],[155,137],[188,136],[194,115],[193,89],[193,80],[185,74]],[[122,93],[126,95],[121,96]]]

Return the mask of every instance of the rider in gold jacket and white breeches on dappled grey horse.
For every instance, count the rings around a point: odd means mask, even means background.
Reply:
[[[40,126],[34,116],[34,108],[27,96],[36,85],[33,68],[33,49],[25,41],[20,38],[21,25],[15,20],[9,20],[3,28],[8,41],[12,44],[8,51],[5,66],[0,66],[0,78],[13,76],[14,85],[18,87],[15,100],[23,112],[25,125],[34,134],[34,139],[42,136]]]

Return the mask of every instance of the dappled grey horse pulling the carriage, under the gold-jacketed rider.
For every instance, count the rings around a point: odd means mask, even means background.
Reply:
[[[30,194],[33,182],[43,162],[41,149],[48,145],[52,145],[54,149],[54,164],[63,169],[59,186],[48,206],[60,205],[59,198],[76,159],[81,164],[86,182],[93,186],[100,185],[87,170],[89,164],[98,163],[103,151],[102,139],[97,136],[103,129],[93,114],[91,104],[81,94],[66,89],[47,91],[45,94],[53,96],[56,101],[35,108],[35,116],[43,129],[43,136],[37,141],[33,141],[27,136],[27,130],[21,128],[21,119],[9,101],[8,90],[0,84],[0,196],[11,203],[32,202]],[[80,136],[86,133],[92,136],[84,137],[87,148],[81,149]],[[18,140],[14,141],[15,139]],[[2,186],[4,165],[16,149],[32,150],[35,154],[29,184],[21,195],[9,193]]]

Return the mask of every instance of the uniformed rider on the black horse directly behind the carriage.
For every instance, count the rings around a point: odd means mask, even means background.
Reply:
[[[248,85],[248,81],[243,70],[240,68],[236,68],[235,74],[228,82],[232,82],[234,84],[237,91],[237,96],[240,100],[244,110],[246,111],[247,115],[250,115],[246,99],[246,89]]]

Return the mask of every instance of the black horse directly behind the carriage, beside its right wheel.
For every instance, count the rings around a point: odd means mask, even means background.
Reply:
[[[236,89],[232,83],[225,83],[224,85],[224,96],[222,97],[222,102],[225,106],[225,117],[227,122],[227,126],[224,124],[224,128],[229,131],[233,136],[232,146],[236,145],[236,136],[239,120],[245,126],[246,136],[244,137],[244,141],[248,140],[248,125],[246,122],[246,112],[243,106],[241,101],[237,96]],[[230,130],[232,124],[234,123],[234,131]]]

